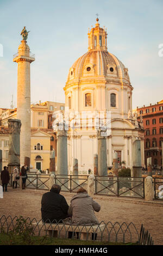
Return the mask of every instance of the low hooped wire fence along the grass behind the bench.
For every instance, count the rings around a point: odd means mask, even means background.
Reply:
[[[153,245],[153,239],[148,231],[141,226],[140,233],[136,229],[134,223],[122,224],[119,222],[105,223],[102,221],[98,225],[72,225],[65,221],[56,222],[43,222],[37,221],[35,218],[20,217],[0,217],[0,233],[9,234],[10,231],[16,231],[17,234],[22,234],[23,231],[30,230],[33,236],[54,236],[60,239],[70,238],[81,240],[97,240],[108,242],[123,242],[123,243],[137,243],[139,245]]]

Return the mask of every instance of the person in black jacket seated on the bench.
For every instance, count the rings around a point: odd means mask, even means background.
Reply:
[[[61,187],[54,184],[51,190],[42,196],[41,216],[43,222],[59,222],[68,217],[68,204],[64,196],[59,194]],[[56,221],[55,221],[56,220]]]

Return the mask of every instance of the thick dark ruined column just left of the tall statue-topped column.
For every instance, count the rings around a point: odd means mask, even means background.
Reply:
[[[20,131],[21,120],[9,119],[9,173],[12,173],[14,166],[20,170]]]

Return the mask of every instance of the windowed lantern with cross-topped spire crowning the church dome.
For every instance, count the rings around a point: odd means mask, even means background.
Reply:
[[[88,33],[89,47],[88,50],[107,51],[107,33],[105,29],[99,27],[98,18],[96,19],[95,28],[91,28]]]

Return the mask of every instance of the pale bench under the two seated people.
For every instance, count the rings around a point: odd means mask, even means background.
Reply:
[[[45,227],[44,230],[48,231],[48,235],[51,237],[60,237],[60,232],[65,231],[67,234],[68,232],[78,232],[79,233],[79,239],[80,240],[92,240],[92,233],[102,233],[102,231],[105,228],[105,224],[99,224],[99,225],[91,225],[91,226],[85,226],[85,225],[69,225],[69,224],[63,224],[63,223],[32,223],[34,227]]]

